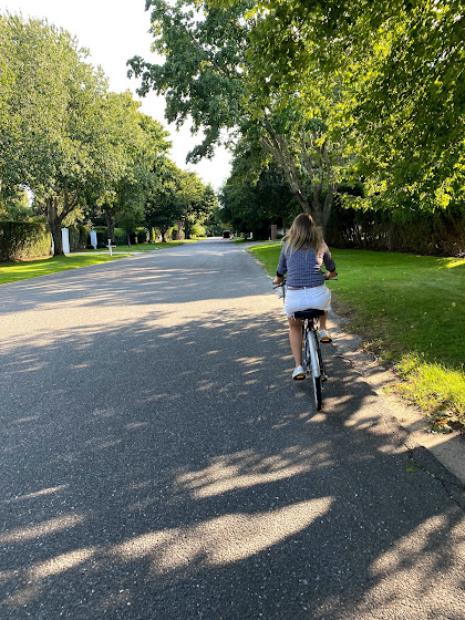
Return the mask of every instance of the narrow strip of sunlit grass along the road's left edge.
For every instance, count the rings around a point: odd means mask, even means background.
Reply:
[[[0,262],[0,285],[14,282],[16,280],[27,280],[38,276],[48,276],[58,271],[66,271],[76,267],[89,267],[99,262],[108,262],[123,258],[124,254],[110,255],[89,254],[81,256],[53,256],[38,260],[25,260],[23,262]]]

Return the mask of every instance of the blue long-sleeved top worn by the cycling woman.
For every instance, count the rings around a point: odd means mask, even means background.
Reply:
[[[289,287],[321,287],[324,283],[324,273],[321,266],[328,271],[335,271],[335,262],[331,258],[331,252],[323,241],[318,256],[313,250],[293,250],[282,246],[276,275],[282,278],[286,273],[286,283]]]

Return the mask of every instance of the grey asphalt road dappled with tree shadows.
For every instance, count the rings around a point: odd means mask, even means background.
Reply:
[[[4,285],[0,338],[2,619],[465,619],[463,487],[332,344],[312,409],[240,246]]]

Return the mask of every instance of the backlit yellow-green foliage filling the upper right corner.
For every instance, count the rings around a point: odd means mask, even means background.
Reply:
[[[213,6],[240,0],[213,0]],[[462,0],[259,0],[256,80],[299,87],[317,65],[344,82],[358,174],[372,200],[445,207],[465,196]]]

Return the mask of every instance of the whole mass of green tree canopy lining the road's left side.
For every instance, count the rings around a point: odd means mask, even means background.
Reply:
[[[55,254],[63,251],[61,228],[91,211],[103,211],[112,239],[116,224],[128,232],[145,224],[174,170],[168,133],[130,92],[110,92],[64,30],[7,14],[0,35],[0,210],[8,203],[11,215],[24,217],[29,189]],[[182,174],[205,192],[193,173],[177,170],[175,179]],[[196,200],[187,190],[180,200],[190,226],[202,218]]]

